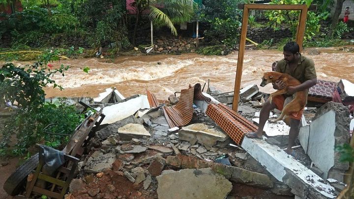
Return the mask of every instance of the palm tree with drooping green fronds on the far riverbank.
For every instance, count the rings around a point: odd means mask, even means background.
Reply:
[[[135,0],[131,6],[136,10],[133,33],[133,45],[135,45],[139,20],[145,10],[149,10],[148,17],[155,26],[167,26],[171,29],[172,34],[177,35],[174,24],[192,19],[195,3],[193,0]]]

